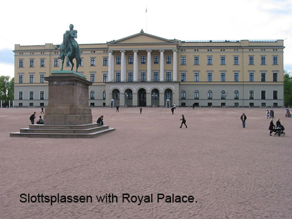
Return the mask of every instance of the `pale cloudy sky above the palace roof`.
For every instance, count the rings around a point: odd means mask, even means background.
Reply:
[[[78,44],[106,43],[142,29],[181,41],[284,40],[284,70],[292,73],[292,0],[10,0],[0,23],[0,76],[11,78],[15,44],[60,44],[70,23]]]

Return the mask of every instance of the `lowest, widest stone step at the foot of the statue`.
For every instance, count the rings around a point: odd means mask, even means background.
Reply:
[[[12,132],[10,133],[10,137],[93,138],[97,137],[98,135],[102,135],[106,132],[111,132],[113,130],[115,130],[115,128],[105,128],[91,133],[63,133],[63,132],[50,133],[49,130],[47,130],[46,133]]]

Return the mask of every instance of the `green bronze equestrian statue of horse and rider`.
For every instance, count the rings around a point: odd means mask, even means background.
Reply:
[[[78,67],[81,64],[81,52],[76,42],[75,38],[77,38],[77,30],[73,30],[74,25],[69,25],[70,30],[66,30],[65,34],[63,34],[63,43],[61,45],[56,45],[55,49],[60,48],[60,60],[62,60],[62,67],[60,71],[63,71],[64,60],[66,58],[66,66],[69,66],[69,62],[71,63],[71,71],[74,68],[73,59],[76,59],[76,72],[78,71]]]

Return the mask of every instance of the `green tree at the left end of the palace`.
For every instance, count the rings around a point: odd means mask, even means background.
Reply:
[[[9,101],[14,100],[14,78],[0,76],[0,100],[3,106],[9,106]]]

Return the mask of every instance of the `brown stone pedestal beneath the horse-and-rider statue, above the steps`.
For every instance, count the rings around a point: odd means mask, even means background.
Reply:
[[[92,82],[75,71],[52,71],[49,82],[49,104],[45,108],[45,125],[91,124],[89,85]]]

